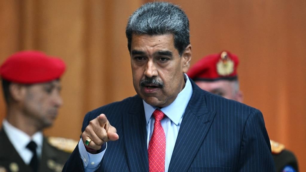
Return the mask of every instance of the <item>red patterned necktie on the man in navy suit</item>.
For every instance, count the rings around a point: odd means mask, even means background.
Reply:
[[[165,117],[165,114],[156,109],[153,116],[154,129],[148,147],[149,171],[162,172],[165,171],[166,136],[160,120]]]

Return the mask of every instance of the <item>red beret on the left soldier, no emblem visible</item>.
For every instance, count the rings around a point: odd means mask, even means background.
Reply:
[[[20,51],[1,65],[3,79],[22,84],[34,84],[58,79],[65,72],[65,63],[40,51]]]

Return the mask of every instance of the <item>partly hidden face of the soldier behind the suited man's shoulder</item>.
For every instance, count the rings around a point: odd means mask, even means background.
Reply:
[[[235,81],[196,81],[195,83],[203,90],[216,95],[242,102],[241,92],[235,89]]]

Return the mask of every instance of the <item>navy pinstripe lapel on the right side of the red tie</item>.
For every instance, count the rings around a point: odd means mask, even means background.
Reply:
[[[215,111],[207,110],[203,91],[193,82],[192,87],[192,97],[183,116],[169,171],[188,170],[215,117]]]

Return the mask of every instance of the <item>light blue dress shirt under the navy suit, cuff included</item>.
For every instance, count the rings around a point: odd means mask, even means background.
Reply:
[[[161,120],[162,128],[164,129],[166,135],[165,172],[168,172],[175,141],[177,139],[177,134],[183,119],[183,114],[185,113],[185,109],[192,96],[191,82],[186,74],[184,76],[185,76],[185,87],[183,88],[183,90],[177,95],[177,98],[174,100],[174,102],[172,102],[169,106],[160,109],[164,114],[166,114],[166,117]],[[145,101],[143,101],[143,103],[144,103],[144,112],[147,122],[147,147],[148,147],[149,141],[153,133],[154,122],[155,122],[155,119],[154,117],[152,117],[152,114],[154,110],[157,109],[157,107],[153,107],[147,104]],[[83,160],[85,172],[95,171],[98,168],[98,165],[101,162],[106,149],[100,152],[99,154],[90,154],[86,151],[82,139],[79,141],[78,146],[79,146],[80,156]]]

